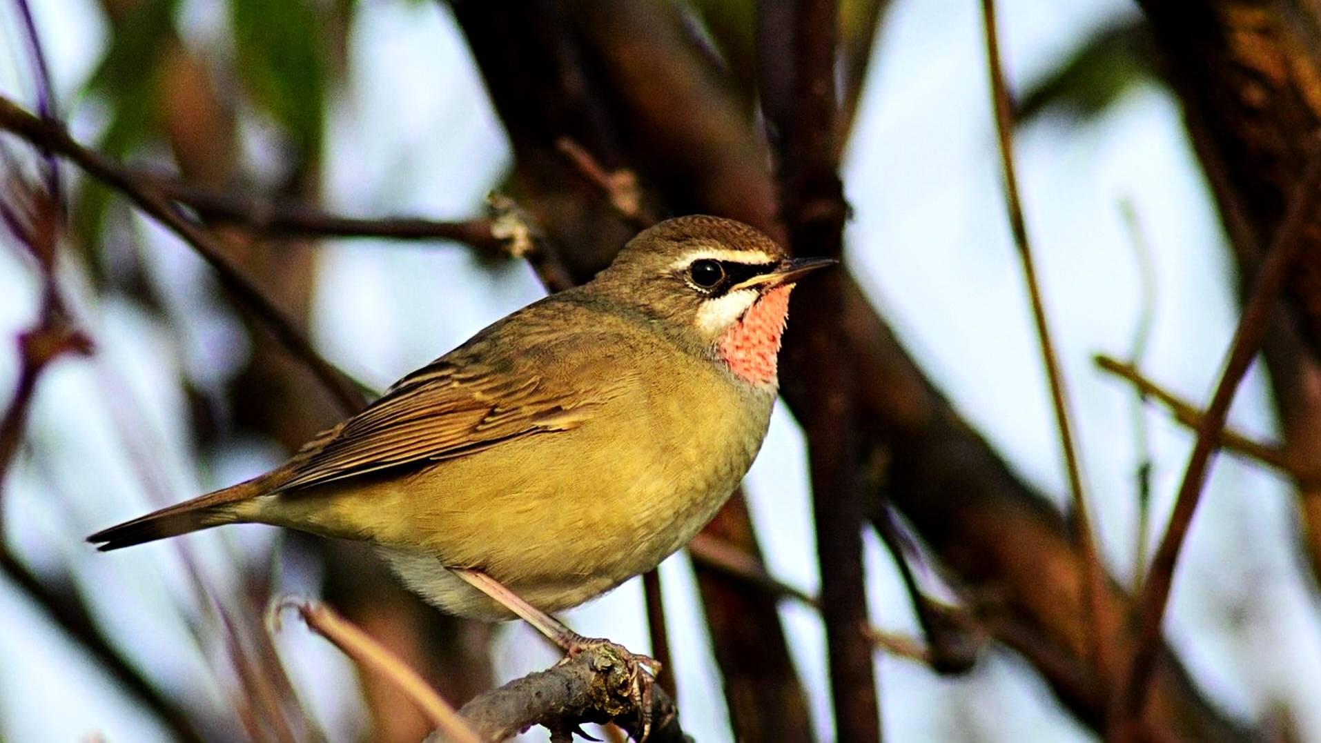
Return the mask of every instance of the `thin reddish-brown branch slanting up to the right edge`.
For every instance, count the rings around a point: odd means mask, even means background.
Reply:
[[[1243,304],[1243,314],[1230,344],[1225,371],[1215,387],[1215,393],[1211,396],[1211,404],[1207,405],[1206,413],[1197,426],[1197,442],[1188,459],[1188,468],[1174,500],[1169,527],[1152,557],[1152,566],[1148,570],[1140,602],[1141,628],[1133,648],[1128,684],[1124,686],[1125,692],[1120,706],[1120,719],[1129,726],[1129,730],[1136,730],[1137,718],[1147,699],[1147,688],[1160,645],[1165,606],[1173,586],[1174,567],[1178,565],[1184,538],[1188,536],[1193,515],[1201,500],[1206,471],[1218,449],[1230,403],[1260,348],[1275,300],[1289,278],[1295,260],[1306,244],[1303,238],[1316,219],[1318,206],[1321,206],[1321,146],[1313,149],[1306,170],[1295,186],[1284,222],[1262,263],[1252,292]]]

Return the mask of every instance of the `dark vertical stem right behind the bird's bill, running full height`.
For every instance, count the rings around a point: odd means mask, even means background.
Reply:
[[[835,149],[836,4],[764,1],[757,33],[762,111],[777,153],[779,211],[789,247],[799,256],[840,259],[848,207]],[[791,50],[789,58],[773,63],[786,49]],[[840,327],[847,277],[832,271],[814,278],[797,289],[786,352],[844,359],[848,348]],[[835,735],[867,743],[881,739],[881,726],[872,641],[865,631],[865,511],[855,387],[848,364],[818,364],[806,391],[810,403],[795,412],[807,436]]]

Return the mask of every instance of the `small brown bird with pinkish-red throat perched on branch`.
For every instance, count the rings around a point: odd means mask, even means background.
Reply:
[[[746,474],[775,400],[789,292],[835,261],[789,259],[729,219],[639,234],[395,383],[292,459],[89,537],[102,550],[235,523],[378,545],[444,611],[577,606],[682,548]]]

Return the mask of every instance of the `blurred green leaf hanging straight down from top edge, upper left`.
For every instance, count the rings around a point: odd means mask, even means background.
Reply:
[[[321,150],[326,44],[309,0],[230,0],[238,74],[300,153]]]

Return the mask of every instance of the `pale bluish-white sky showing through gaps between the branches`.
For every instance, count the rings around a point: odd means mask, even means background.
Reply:
[[[34,5],[67,110],[102,53],[99,9],[90,0]],[[1001,5],[1001,45],[1018,88],[1089,29],[1133,12],[1119,0]],[[32,102],[15,50],[20,37],[5,15],[9,5],[3,8],[0,90]],[[223,36],[217,30],[223,12],[215,3],[185,3],[181,24],[192,42]],[[1049,397],[1003,209],[980,34],[978,4],[971,0],[894,5],[844,165],[855,209],[849,259],[909,350],[956,406],[1024,476],[1063,501]],[[350,214],[412,211],[444,218],[476,211],[510,156],[452,20],[429,4],[363,4],[351,54],[353,77],[337,100],[326,139],[329,205]],[[73,113],[74,129],[91,139],[100,125],[94,107],[73,107]],[[1136,205],[1159,278],[1159,317],[1145,368],[1193,399],[1206,397],[1232,331],[1227,251],[1177,107],[1157,88],[1131,92],[1090,125],[1034,125],[1020,136],[1017,154],[1106,557],[1116,575],[1127,578],[1135,532],[1131,396],[1090,362],[1094,352],[1123,356],[1137,319],[1139,275],[1118,205],[1122,198]],[[206,276],[185,247],[159,230],[144,227],[141,239],[172,284],[189,286],[188,277]],[[151,545],[99,556],[82,537],[152,505],[116,426],[128,425],[145,441],[173,499],[272,463],[273,453],[258,443],[205,466],[188,450],[182,400],[170,380],[180,364],[215,375],[222,355],[217,348],[234,342],[232,322],[215,313],[205,293],[173,297],[196,319],[172,331],[132,306],[90,304],[83,280],[71,271],[66,286],[78,297],[99,354],[95,362],[59,363],[42,379],[32,446],[7,483],[7,537],[38,567],[71,564],[133,659],[223,710],[223,694],[206,670],[206,653],[213,651],[198,649],[188,631],[188,622],[205,624],[205,619],[185,620],[173,608],[180,597],[190,603],[177,549]],[[13,251],[0,251],[0,337],[12,338],[30,323],[34,290]],[[328,356],[383,387],[539,296],[526,267],[491,275],[477,269],[462,248],[345,242],[325,248],[313,334]],[[177,337],[184,338],[182,348]],[[0,389],[12,387],[16,371],[13,352],[0,354]],[[107,377],[119,380],[115,389],[107,389]],[[111,396],[120,401],[107,404]],[[1254,372],[1238,400],[1234,425],[1273,433],[1260,373]],[[1160,414],[1149,420],[1160,520],[1190,437]],[[786,413],[777,412],[749,478],[771,569],[815,590],[802,441]],[[225,591],[234,578],[227,567],[232,556],[268,549],[272,533],[242,528],[189,540],[213,585]],[[1321,633],[1295,545],[1288,490],[1255,467],[1221,458],[1180,564],[1169,631],[1218,703],[1255,718],[1283,702],[1304,738],[1321,740],[1321,707],[1310,703],[1309,693],[1321,681]],[[914,631],[900,583],[875,540],[868,560],[875,622]],[[720,682],[688,565],[676,557],[662,574],[684,727],[697,740],[725,740]],[[306,575],[301,583],[314,581]],[[299,587],[300,579],[292,582]],[[798,607],[786,606],[783,616],[815,723],[828,739],[819,622]],[[589,635],[647,647],[635,582],[571,612],[569,622]],[[284,631],[281,647],[296,685],[325,726],[361,730],[361,703],[345,661],[296,624]],[[498,670],[506,678],[552,661],[522,627],[505,628],[497,648]],[[127,703],[4,583],[0,657],[0,739],[77,740],[92,731],[110,740],[162,735],[149,715]],[[1013,657],[988,657],[958,680],[937,678],[888,657],[878,660],[878,668],[884,723],[893,740],[1087,738]]]

